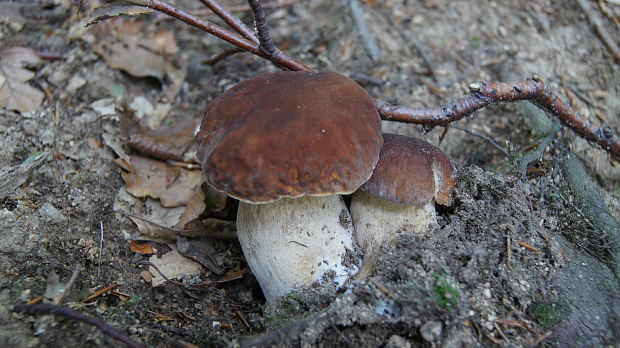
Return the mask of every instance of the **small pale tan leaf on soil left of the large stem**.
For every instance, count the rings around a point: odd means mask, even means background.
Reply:
[[[153,255],[149,258],[168,279],[181,279],[184,276],[200,275],[203,272],[202,266],[181,255],[176,249],[164,254],[161,258]],[[149,272],[153,275],[151,285],[156,287],[166,282],[166,280],[153,267],[149,267]]]

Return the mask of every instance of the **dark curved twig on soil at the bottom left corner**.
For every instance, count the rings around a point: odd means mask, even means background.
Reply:
[[[43,313],[43,314],[62,315],[71,320],[81,321],[83,323],[93,325],[97,327],[99,330],[101,330],[101,332],[104,335],[110,336],[119,342],[123,342],[128,347],[132,347],[132,348],[143,347],[140,343],[129,338],[127,335],[123,334],[117,329],[109,326],[108,324],[103,322],[101,319],[86,316],[80,312],[74,311],[73,309],[69,307],[57,306],[57,305],[53,305],[50,303],[39,303],[35,305],[21,304],[21,305],[15,305],[13,307],[13,312],[28,313],[28,314]]]

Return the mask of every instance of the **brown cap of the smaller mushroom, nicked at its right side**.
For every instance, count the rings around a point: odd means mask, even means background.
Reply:
[[[418,207],[432,201],[452,204],[455,169],[450,159],[424,140],[383,134],[383,148],[372,177],[360,190]]]

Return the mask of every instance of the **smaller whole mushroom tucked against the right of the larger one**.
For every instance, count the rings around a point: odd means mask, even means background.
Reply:
[[[421,234],[437,225],[434,202],[452,204],[454,166],[435,146],[383,134],[372,177],[351,198],[358,244],[372,255],[401,233]]]

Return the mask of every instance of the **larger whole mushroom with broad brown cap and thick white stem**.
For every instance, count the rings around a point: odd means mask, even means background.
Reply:
[[[197,141],[206,182],[240,201],[239,242],[268,301],[357,272],[339,195],[370,178],[382,145],[362,87],[336,73],[262,74],[207,106]]]

